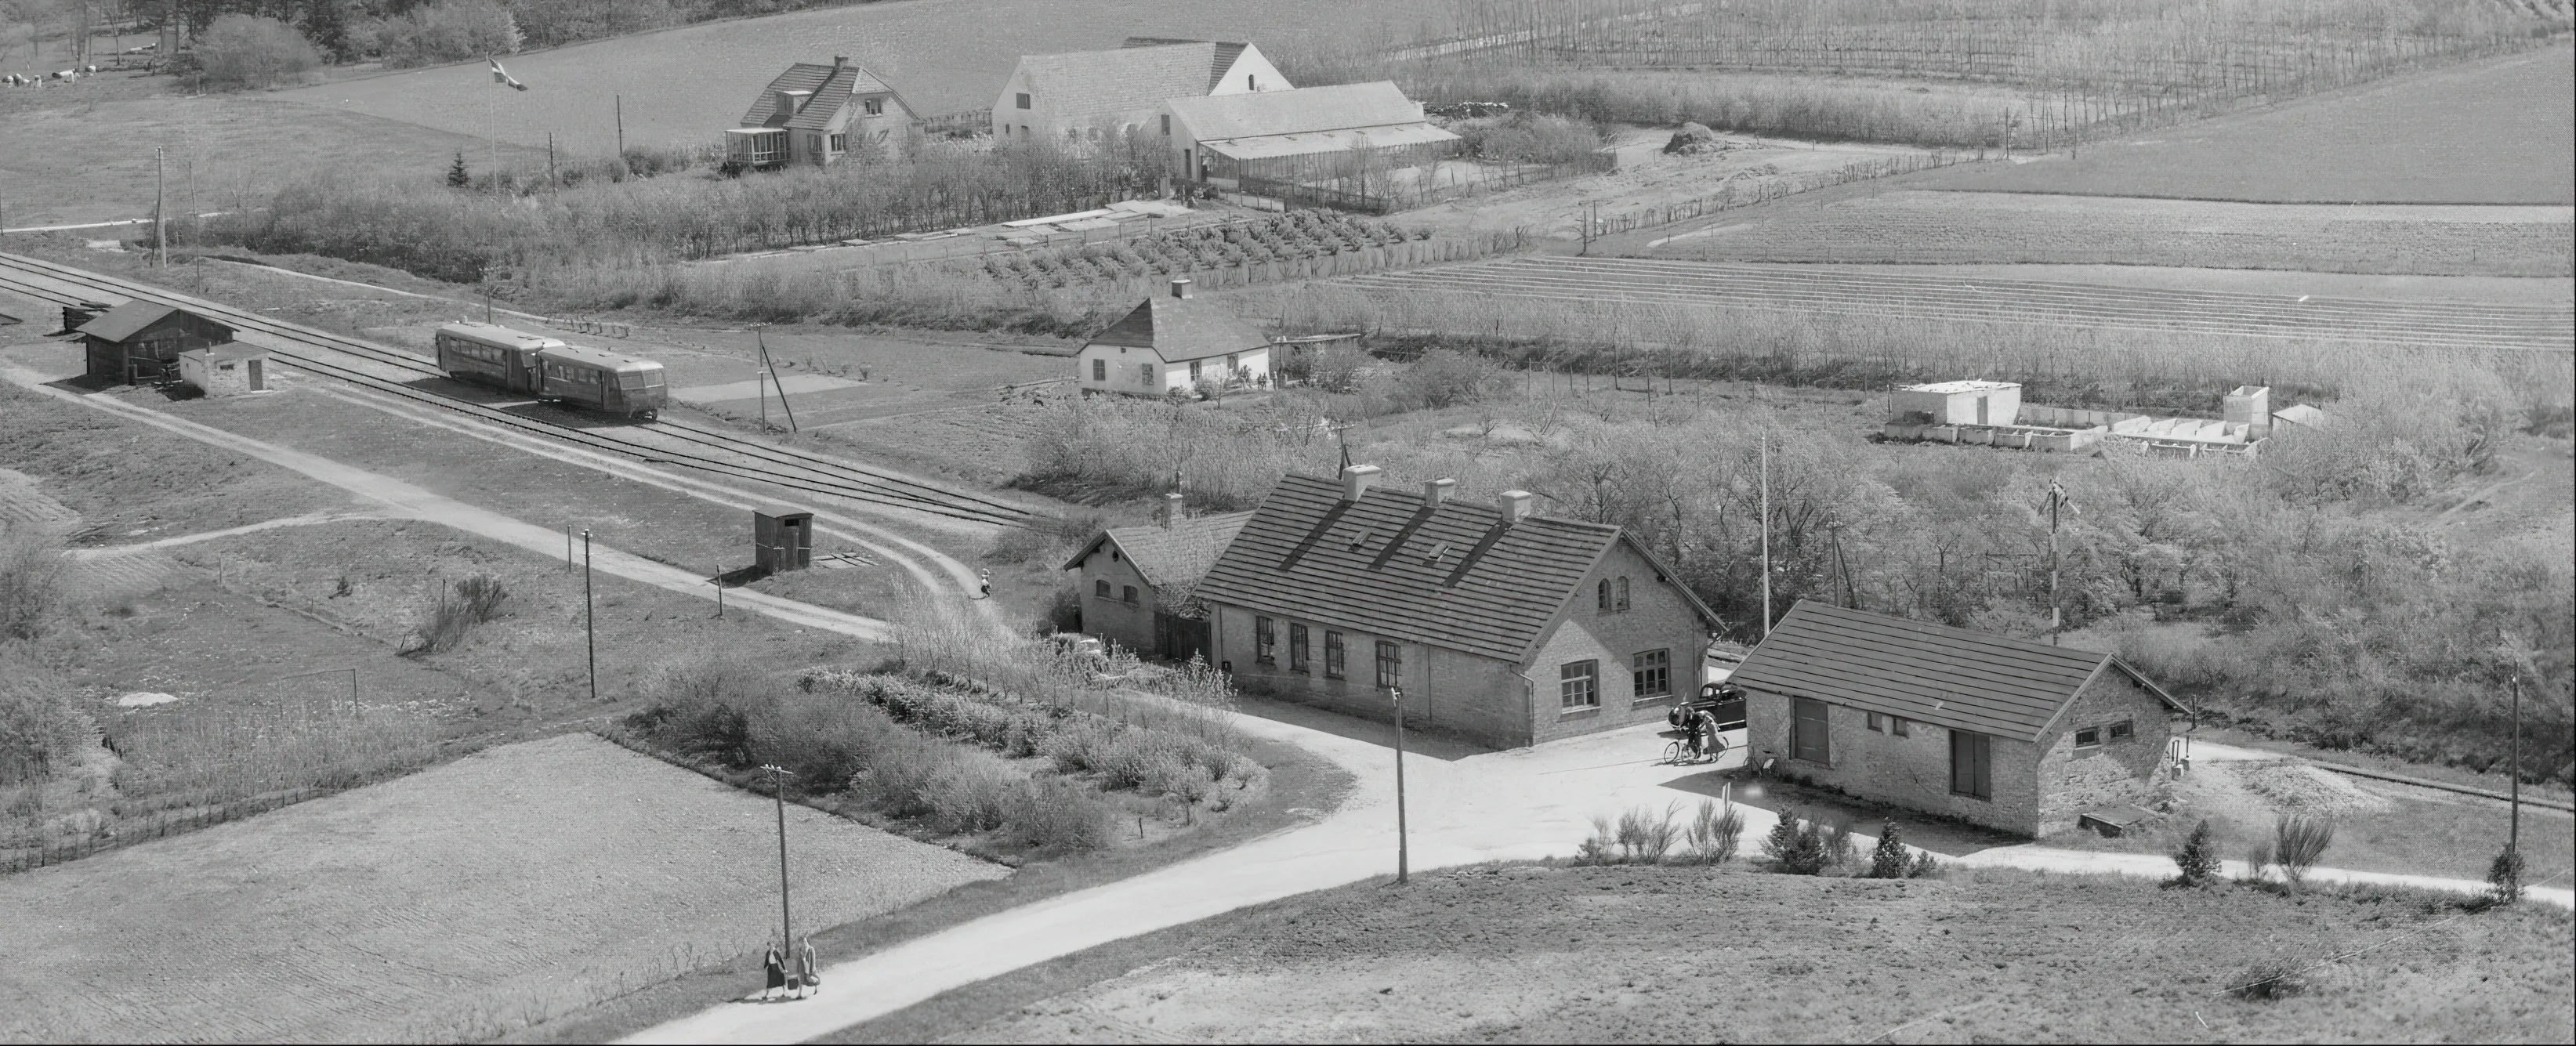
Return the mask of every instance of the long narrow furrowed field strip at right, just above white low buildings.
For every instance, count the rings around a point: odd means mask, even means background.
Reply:
[[[1914,319],[2182,330],[2244,338],[2372,340],[2421,348],[2576,350],[2576,309],[2473,301],[2293,299],[2058,281],[1798,271],[1654,258],[1507,258],[1347,276],[1370,291],[1556,301],[1700,304]]]

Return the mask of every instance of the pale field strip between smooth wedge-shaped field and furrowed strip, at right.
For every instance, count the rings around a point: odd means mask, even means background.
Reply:
[[[1770,263],[2040,263],[2568,276],[2566,206],[2221,204],[1886,191],[1795,198],[1595,252]]]

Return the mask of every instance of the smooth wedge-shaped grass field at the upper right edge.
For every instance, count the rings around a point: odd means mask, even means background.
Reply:
[[[2576,204],[2576,49],[2558,46],[1914,185],[2272,204]]]

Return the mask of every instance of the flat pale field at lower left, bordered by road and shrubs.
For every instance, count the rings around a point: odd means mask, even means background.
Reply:
[[[507,812],[497,817],[495,812]],[[569,734],[0,879],[8,1036],[446,1041],[757,951],[770,804]],[[1005,873],[804,806],[801,925]]]

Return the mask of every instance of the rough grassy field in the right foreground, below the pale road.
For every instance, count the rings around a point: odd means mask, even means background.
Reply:
[[[2563,912],[2409,894],[1481,866],[1175,930],[940,1041],[2566,1041],[2568,948]],[[2267,964],[2321,966],[2228,994]]]

